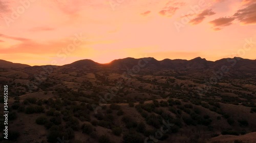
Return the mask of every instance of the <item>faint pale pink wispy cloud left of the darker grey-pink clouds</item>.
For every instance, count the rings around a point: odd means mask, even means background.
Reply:
[[[184,5],[185,3],[173,3],[172,1],[170,1],[165,5],[165,7],[161,11],[159,11],[159,14],[168,17],[173,16],[176,13],[176,11]]]

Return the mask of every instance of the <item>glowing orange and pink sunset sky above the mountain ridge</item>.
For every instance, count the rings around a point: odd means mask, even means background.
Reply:
[[[0,0],[0,59],[256,59],[255,0]]]

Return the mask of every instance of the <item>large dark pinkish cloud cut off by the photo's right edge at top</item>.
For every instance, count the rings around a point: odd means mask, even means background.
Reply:
[[[248,2],[250,3],[250,1]],[[256,24],[256,3],[238,10],[233,17],[239,20],[242,24]]]

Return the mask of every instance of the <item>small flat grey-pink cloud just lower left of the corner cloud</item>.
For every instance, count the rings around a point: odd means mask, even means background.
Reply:
[[[218,31],[221,30],[221,27],[231,25],[234,19],[235,18],[233,17],[220,17],[210,21],[209,23],[211,23],[214,26],[215,31]]]

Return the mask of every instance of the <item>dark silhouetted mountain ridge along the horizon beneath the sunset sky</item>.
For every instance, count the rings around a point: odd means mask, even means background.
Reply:
[[[47,67],[51,65],[47,65]],[[20,68],[20,67],[30,67],[24,64],[14,64],[7,61],[0,61],[0,67],[2,68]],[[33,66],[30,68],[40,68],[42,66]],[[46,66],[45,66],[46,67]],[[228,68],[228,70],[237,71],[250,71],[250,73],[256,73],[256,60],[242,59],[238,57],[226,58],[217,60],[215,62],[207,61],[200,57],[192,60],[170,60],[164,59],[162,61],[157,61],[154,58],[124,58],[118,59],[110,62],[109,64],[99,64],[92,60],[79,60],[71,64],[63,66],[52,66],[52,68],[117,68],[117,69],[132,69],[132,68],[147,68],[147,69],[170,69],[170,70],[221,70],[223,67]]]

